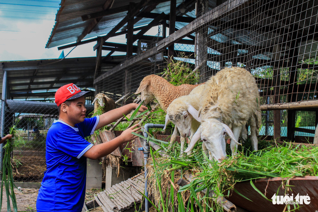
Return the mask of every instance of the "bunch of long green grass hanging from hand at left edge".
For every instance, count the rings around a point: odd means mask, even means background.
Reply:
[[[11,153],[13,151],[13,138],[15,137],[15,126],[10,128],[11,139],[8,139],[6,144],[3,146],[3,168],[2,168],[2,182],[1,182],[1,194],[0,194],[0,210],[2,208],[2,197],[3,197],[3,184],[5,186],[5,192],[7,195],[7,209],[11,211],[10,199],[12,201],[13,210],[17,212],[17,200],[14,194],[14,181],[12,174],[11,165]],[[11,191],[10,191],[11,190]]]

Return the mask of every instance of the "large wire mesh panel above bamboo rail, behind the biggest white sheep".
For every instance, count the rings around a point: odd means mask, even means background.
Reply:
[[[261,104],[317,99],[317,2],[230,3],[219,6],[229,12],[194,29],[201,82],[239,66],[255,76]]]

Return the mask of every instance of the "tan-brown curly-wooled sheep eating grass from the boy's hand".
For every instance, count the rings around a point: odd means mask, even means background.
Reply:
[[[167,112],[169,104],[176,98],[188,95],[193,88],[198,85],[182,84],[174,86],[161,76],[151,74],[145,76],[140,82],[135,94],[141,93],[141,100],[148,104],[154,97],[157,99],[160,107]],[[175,127],[170,141],[175,141],[177,136],[177,127]],[[173,143],[172,142],[172,143]],[[184,138],[181,137],[181,144],[184,144]]]

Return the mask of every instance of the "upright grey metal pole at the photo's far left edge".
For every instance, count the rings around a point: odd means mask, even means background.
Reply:
[[[4,137],[5,101],[7,99],[7,71],[3,71],[1,99],[1,137]],[[0,144],[0,170],[3,167],[3,143]],[[0,174],[2,179],[2,173]]]

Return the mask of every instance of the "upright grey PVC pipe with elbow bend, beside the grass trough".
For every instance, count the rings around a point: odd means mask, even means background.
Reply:
[[[143,132],[143,135],[145,138],[148,138],[148,133],[149,132],[149,128],[164,128],[164,124],[145,124],[143,126],[145,128],[144,132]],[[146,165],[147,165],[147,161],[148,161],[148,158],[149,158],[149,144],[147,142],[147,139],[144,139],[143,141],[143,157],[145,159],[145,196],[148,198],[148,190],[147,190],[147,187],[148,187],[148,179],[147,179],[147,168],[146,168]],[[149,212],[149,201],[145,198],[145,212]]]

